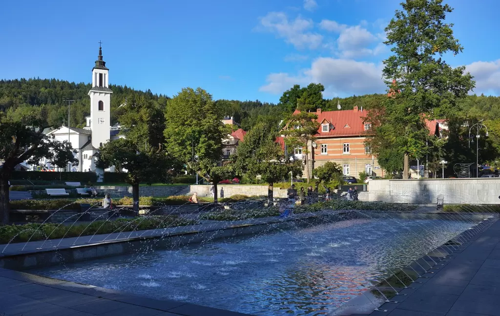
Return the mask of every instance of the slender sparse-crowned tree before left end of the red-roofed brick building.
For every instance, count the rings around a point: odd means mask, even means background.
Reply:
[[[319,123],[317,115],[309,112],[297,112],[287,119],[287,124],[281,133],[285,136],[285,143],[288,148],[301,148],[304,155],[305,173],[307,183],[310,180],[309,153],[312,151],[312,143],[316,140],[315,135]],[[310,148],[310,150],[309,150]]]

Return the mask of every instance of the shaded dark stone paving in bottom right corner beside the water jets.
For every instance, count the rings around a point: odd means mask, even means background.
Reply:
[[[370,316],[500,316],[500,221]]]

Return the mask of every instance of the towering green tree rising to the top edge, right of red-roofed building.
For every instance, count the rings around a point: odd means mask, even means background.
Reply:
[[[382,71],[389,88],[384,102],[385,117],[374,128],[372,150],[379,153],[380,129],[392,130],[392,145],[403,154],[403,178],[409,176],[409,159],[424,155],[428,132],[424,119],[447,118],[459,111],[460,102],[474,87],[465,67],[452,68],[444,53],[458,54],[462,46],[454,38],[453,24],[444,23],[451,7],[442,0],[406,0],[385,28],[393,54],[383,61]],[[374,113],[382,113],[374,111]],[[369,120],[377,120],[369,117]],[[383,127],[385,126],[385,127]]]

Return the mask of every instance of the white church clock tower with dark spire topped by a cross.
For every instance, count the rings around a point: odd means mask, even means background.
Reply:
[[[90,130],[92,131],[92,146],[99,148],[109,141],[111,89],[109,89],[109,69],[102,60],[102,48],[99,42],[99,56],[92,68],[92,88],[90,96]]]

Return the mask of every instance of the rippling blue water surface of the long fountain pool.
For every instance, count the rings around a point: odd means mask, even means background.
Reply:
[[[471,226],[384,216],[34,273],[253,315],[322,315]]]

